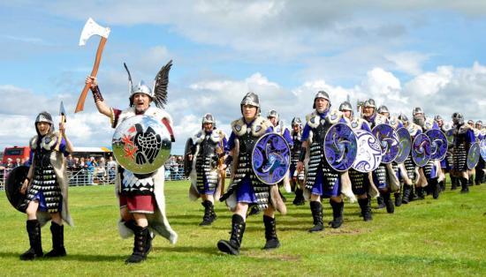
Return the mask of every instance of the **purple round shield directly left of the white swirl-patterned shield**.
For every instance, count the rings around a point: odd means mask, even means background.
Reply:
[[[351,127],[346,124],[330,126],[324,139],[324,156],[330,167],[346,171],[356,160],[358,141]]]

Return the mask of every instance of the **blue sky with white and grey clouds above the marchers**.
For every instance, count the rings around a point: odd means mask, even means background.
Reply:
[[[111,28],[98,74],[111,106],[128,105],[124,62],[135,81],[151,82],[174,60],[167,110],[177,153],[206,112],[229,132],[248,90],[286,122],[310,112],[320,89],[335,108],[349,94],[353,103],[374,97],[392,113],[422,106],[429,116],[462,111],[484,120],[485,15],[481,1],[0,4],[0,147],[27,144],[36,114],[57,113],[59,101],[72,113],[99,41],[78,46],[88,17]],[[68,116],[75,145],[110,145],[91,96],[83,113]]]

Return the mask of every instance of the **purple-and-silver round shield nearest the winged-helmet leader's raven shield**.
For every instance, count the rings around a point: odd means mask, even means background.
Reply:
[[[262,183],[282,181],[290,168],[290,147],[277,133],[266,133],[254,144],[252,152],[254,175]]]

